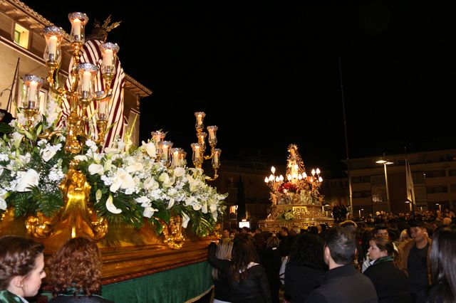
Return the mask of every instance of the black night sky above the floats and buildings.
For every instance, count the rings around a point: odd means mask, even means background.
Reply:
[[[140,139],[162,129],[190,154],[193,113],[204,111],[219,127],[222,160],[284,165],[296,143],[306,166],[340,175],[343,96],[351,158],[456,148],[455,4],[94,2],[25,1],[67,32],[73,11],[88,14],[88,33],[94,18],[122,21],[108,41],[153,91],[142,99]]]

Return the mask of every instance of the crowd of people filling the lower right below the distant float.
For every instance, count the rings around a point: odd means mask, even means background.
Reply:
[[[209,245],[214,302],[456,302],[453,215],[378,213],[276,233],[226,229]]]

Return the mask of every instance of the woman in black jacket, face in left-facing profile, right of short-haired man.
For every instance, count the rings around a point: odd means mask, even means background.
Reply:
[[[368,253],[373,264],[363,274],[371,279],[375,286],[378,302],[411,302],[410,285],[405,274],[407,270],[400,267],[399,255],[394,249],[393,241],[388,237],[373,237],[369,240]]]

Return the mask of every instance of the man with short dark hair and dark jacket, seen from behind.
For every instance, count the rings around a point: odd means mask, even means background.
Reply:
[[[334,226],[326,234],[324,259],[329,267],[321,287],[309,294],[308,303],[376,303],[371,280],[353,267],[355,234]]]

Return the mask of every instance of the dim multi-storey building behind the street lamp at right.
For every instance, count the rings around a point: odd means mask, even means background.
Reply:
[[[416,208],[420,211],[456,207],[456,149],[408,154],[413,176]],[[376,211],[410,211],[406,201],[405,154],[387,156],[392,164],[377,164],[379,157],[350,159],[353,216]],[[346,161],[345,161],[346,162]],[[346,162],[347,163],[347,162]],[[388,181],[388,191],[386,188]],[[331,206],[349,202],[348,179],[326,179],[323,185],[326,203]]]

